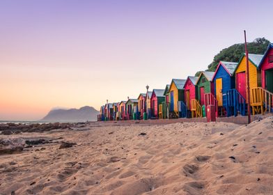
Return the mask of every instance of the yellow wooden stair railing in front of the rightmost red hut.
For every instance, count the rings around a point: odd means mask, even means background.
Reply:
[[[273,112],[273,93],[261,87],[251,88],[250,106],[253,115],[265,114],[265,111]]]

